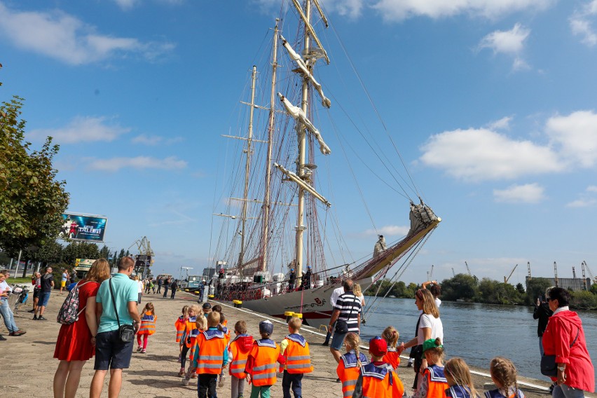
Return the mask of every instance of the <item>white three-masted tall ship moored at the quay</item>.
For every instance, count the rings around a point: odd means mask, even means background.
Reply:
[[[280,18],[268,29],[268,50],[259,55],[264,65],[250,69],[239,126],[224,135],[226,164],[218,177],[221,196],[214,199],[210,253],[217,299],[240,300],[273,317],[301,313],[313,327],[328,323],[331,293],[344,280],[350,277],[365,291],[398,261],[408,266],[441,221],[424,203],[383,121],[370,130],[358,120],[359,109],[343,104],[352,92],[365,102],[371,98],[358,74],[350,87],[341,83],[343,76],[331,77],[338,69],[322,44],[330,39],[329,27],[320,1],[281,1]],[[327,76],[334,83],[320,83]],[[363,178],[366,187],[359,183]],[[380,209],[367,198],[388,187],[387,197],[396,200],[381,210],[383,219],[402,208],[410,228],[386,244],[373,223]],[[358,200],[360,206],[351,204]],[[370,249],[352,254],[334,201],[371,220],[373,228],[362,228],[373,231],[373,255]]]

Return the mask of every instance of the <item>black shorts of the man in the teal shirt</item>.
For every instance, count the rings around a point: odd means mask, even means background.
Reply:
[[[95,366],[96,371],[108,369],[128,369],[132,355],[133,342],[123,343],[118,336],[118,330],[98,333],[95,338]]]

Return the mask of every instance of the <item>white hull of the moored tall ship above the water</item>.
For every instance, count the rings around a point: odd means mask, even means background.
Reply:
[[[355,281],[365,291],[373,283],[373,278],[366,277]],[[272,317],[286,319],[284,313],[303,314],[303,322],[310,327],[319,329],[320,325],[329,324],[332,308],[329,298],[334,289],[342,284],[327,284],[314,289],[292,291],[285,294],[265,297],[263,299],[242,301],[242,306],[257,313],[263,313]]]

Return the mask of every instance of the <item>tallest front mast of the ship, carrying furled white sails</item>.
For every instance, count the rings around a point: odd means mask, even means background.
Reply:
[[[303,49],[308,50],[310,44],[310,37],[308,32],[309,21],[311,19],[311,1],[305,2],[305,39],[303,41]],[[310,71],[313,69],[310,65],[308,66]],[[307,114],[308,108],[308,97],[309,97],[309,83],[307,77],[303,77],[303,90],[301,95],[301,109]],[[306,126],[303,123],[297,124],[297,133],[299,135],[299,158],[297,164],[297,173],[300,179],[304,180],[305,177],[305,157],[306,157]],[[297,210],[297,221],[296,221],[296,275],[302,277],[303,275],[303,231],[306,230],[306,226],[303,225],[305,218],[305,188],[299,186],[299,204]]]

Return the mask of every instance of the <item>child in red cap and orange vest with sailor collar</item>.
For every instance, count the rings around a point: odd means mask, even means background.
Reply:
[[[371,362],[361,367],[353,398],[376,397],[392,398],[402,397],[404,385],[392,369],[392,365],[383,362],[387,352],[387,343],[383,338],[373,337],[369,341],[369,354]]]

